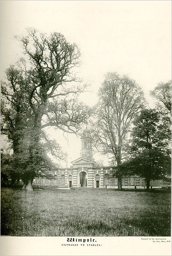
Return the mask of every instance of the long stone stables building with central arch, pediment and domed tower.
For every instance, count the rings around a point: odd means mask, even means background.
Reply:
[[[94,160],[91,133],[87,128],[81,136],[80,157],[71,164],[70,168],[50,172],[54,179],[36,178],[33,180],[33,185],[61,188],[118,188],[118,179],[111,177],[115,166],[102,166]],[[145,188],[145,186],[145,178],[136,175],[122,178],[123,188]],[[159,180],[151,180],[150,187],[159,187]]]

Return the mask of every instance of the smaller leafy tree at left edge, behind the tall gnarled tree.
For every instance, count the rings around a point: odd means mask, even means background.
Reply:
[[[27,127],[27,120],[31,118],[27,94],[22,86],[21,71],[10,66],[6,70],[6,77],[10,83],[1,83],[1,132],[8,135],[12,142],[13,152],[18,152],[18,142],[22,130]]]

